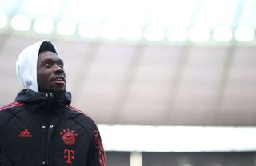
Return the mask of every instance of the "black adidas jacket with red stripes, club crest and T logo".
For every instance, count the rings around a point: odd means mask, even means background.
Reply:
[[[106,166],[96,124],[70,101],[24,89],[0,108],[0,165]]]

